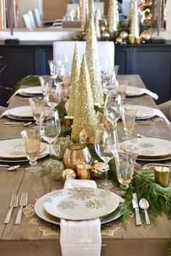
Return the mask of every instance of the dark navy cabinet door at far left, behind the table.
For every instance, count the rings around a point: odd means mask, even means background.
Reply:
[[[21,46],[4,46],[0,49],[1,63],[7,65],[1,72],[1,86],[13,88],[18,80],[27,75],[38,75],[38,49],[22,48]],[[1,89],[0,104],[6,106],[12,91]]]

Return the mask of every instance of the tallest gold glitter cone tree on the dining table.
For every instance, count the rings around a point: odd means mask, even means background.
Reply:
[[[93,92],[93,103],[96,106],[101,106],[101,104],[104,103],[104,99],[93,15],[91,15],[91,20],[88,26],[86,61],[88,65],[88,72],[90,75],[91,88]]]

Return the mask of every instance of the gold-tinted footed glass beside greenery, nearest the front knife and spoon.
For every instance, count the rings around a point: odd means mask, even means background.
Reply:
[[[137,156],[137,150],[130,146],[115,151],[114,157],[117,169],[117,179],[120,182],[120,188],[122,189],[116,191],[117,194],[122,195],[125,193],[125,190],[128,189],[129,183],[133,178],[134,165]]]

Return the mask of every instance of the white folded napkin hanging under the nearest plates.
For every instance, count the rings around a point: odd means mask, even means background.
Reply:
[[[96,188],[95,181],[67,179],[64,189],[73,187]],[[100,256],[101,255],[101,223],[99,218],[93,220],[61,219],[60,244],[62,256]]]

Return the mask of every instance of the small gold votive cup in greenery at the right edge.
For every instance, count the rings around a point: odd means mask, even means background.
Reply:
[[[154,181],[163,188],[167,188],[170,182],[170,168],[165,166],[154,168]]]

